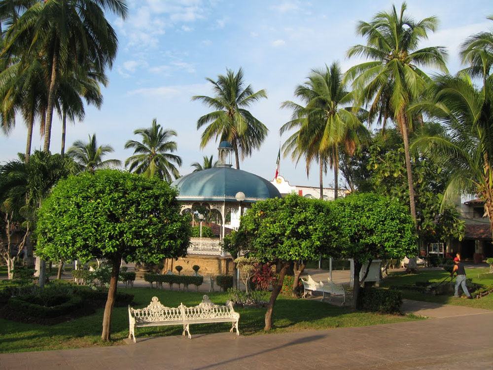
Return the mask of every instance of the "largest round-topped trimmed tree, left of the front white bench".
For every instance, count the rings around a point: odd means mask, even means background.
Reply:
[[[190,224],[176,190],[159,179],[101,170],[55,186],[38,213],[37,249],[43,258],[106,259],[111,279],[102,339],[110,339],[111,311],[121,259],[160,263],[186,255]]]

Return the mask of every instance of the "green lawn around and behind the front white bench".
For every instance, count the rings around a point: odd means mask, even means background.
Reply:
[[[152,296],[168,306],[177,306],[180,302],[186,305],[198,304],[203,293],[170,292],[150,288],[119,289],[135,295],[137,307],[144,307]],[[210,298],[214,303],[224,304],[227,294],[212,293]],[[239,309],[240,333],[255,335],[263,331],[265,308]],[[349,308],[333,306],[331,304],[306,299],[294,299],[279,296],[274,312],[274,326],[272,333],[301,331],[310,329],[328,329],[339,327],[356,327],[394,323],[400,321],[418,320],[411,316],[379,315],[365,312],[352,312]],[[0,319],[0,352],[22,352],[49,349],[63,349],[104,345],[100,342],[103,309],[97,310],[94,315],[78,318],[65,323],[43,326],[35,324],[21,324]],[[111,344],[122,344],[122,339],[128,336],[128,309],[116,307],[112,318]],[[192,335],[199,333],[227,332],[229,324],[201,324],[192,325]],[[182,328],[151,327],[137,328],[138,338],[145,336],[179,335]],[[181,338],[179,339],[181,340]]]

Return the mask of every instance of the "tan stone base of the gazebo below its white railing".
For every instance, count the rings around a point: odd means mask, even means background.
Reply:
[[[194,265],[199,265],[199,275],[202,276],[217,276],[217,275],[231,275],[233,271],[233,258],[231,256],[221,257],[221,256],[205,256],[205,255],[192,255],[189,254],[187,257],[175,259],[165,259],[164,270],[172,270],[175,274],[176,266],[181,266],[182,274],[192,275],[194,270],[192,267]]]

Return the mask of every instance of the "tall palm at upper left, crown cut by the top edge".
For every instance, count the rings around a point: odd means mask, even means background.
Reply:
[[[49,151],[51,123],[60,75],[74,65],[94,63],[97,70],[111,68],[116,56],[116,33],[104,11],[127,15],[125,0],[35,1],[6,33],[3,53],[11,54],[18,39],[30,39],[22,55],[28,64],[32,56],[47,61],[49,75],[44,151]]]

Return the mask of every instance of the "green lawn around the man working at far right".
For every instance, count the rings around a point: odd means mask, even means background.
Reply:
[[[472,278],[473,283],[481,285],[493,285],[493,274],[488,273],[488,268],[466,268],[466,275]],[[420,271],[418,274],[406,274],[405,272],[394,272],[385,279],[380,285],[382,287],[392,287],[399,285],[415,285],[418,281],[440,282],[450,274],[445,270]],[[455,280],[454,280],[455,282]],[[461,292],[461,290],[459,290]],[[423,300],[426,302],[436,302],[444,304],[455,304],[458,306],[468,306],[475,308],[485,308],[493,310],[493,294],[484,296],[481,299],[460,299],[453,295],[432,296],[420,292],[402,290],[402,297],[406,299]]]

